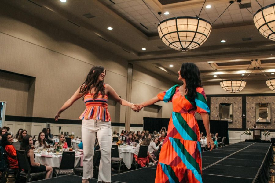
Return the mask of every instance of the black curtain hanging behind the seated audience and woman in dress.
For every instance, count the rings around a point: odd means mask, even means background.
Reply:
[[[153,133],[153,131],[159,132],[162,127],[166,127],[166,130],[168,130],[168,124],[169,124],[170,118],[155,118],[155,117],[144,117],[143,118],[143,129],[148,130],[149,133]],[[200,132],[204,133],[204,136],[206,136],[206,131],[204,128],[204,123],[202,120],[197,120]],[[227,121],[216,121],[216,120],[210,120],[210,131],[215,135],[216,132],[218,132],[219,137],[226,137],[226,144],[229,144],[228,140],[228,122]]]

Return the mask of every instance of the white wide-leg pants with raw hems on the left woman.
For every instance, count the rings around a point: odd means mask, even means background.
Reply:
[[[93,178],[94,142],[97,136],[101,153],[98,181],[111,182],[111,121],[82,120],[81,130],[84,152],[82,179]]]

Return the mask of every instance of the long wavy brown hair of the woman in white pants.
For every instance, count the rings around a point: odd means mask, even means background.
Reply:
[[[94,99],[97,98],[99,91],[103,96],[105,95],[105,88],[103,85],[104,80],[97,83],[98,77],[100,76],[100,74],[103,73],[104,70],[105,68],[102,66],[93,66],[91,68],[89,74],[86,77],[86,81],[82,84],[82,87],[80,88],[80,91],[79,91],[79,95],[83,96],[83,100],[84,100],[84,95],[89,93],[93,87],[95,88],[94,90],[95,93],[93,96]]]

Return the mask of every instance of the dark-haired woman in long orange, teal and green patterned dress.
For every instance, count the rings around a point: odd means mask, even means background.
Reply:
[[[178,71],[183,85],[169,90],[139,104],[139,108],[158,101],[172,102],[167,136],[163,142],[155,183],[189,182],[202,183],[200,131],[195,113],[200,113],[207,132],[207,146],[214,147],[211,138],[208,113],[210,110],[201,88],[200,70],[194,63],[183,63]]]

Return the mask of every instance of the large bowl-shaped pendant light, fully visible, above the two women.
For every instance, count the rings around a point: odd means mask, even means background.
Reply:
[[[205,2],[206,0],[204,4]],[[229,3],[232,5],[234,1]],[[203,7],[204,5],[200,13]],[[180,51],[195,49],[204,44],[211,33],[212,25],[222,14],[211,24],[209,21],[200,18],[200,13],[196,17],[179,16],[161,21],[158,24],[158,33],[161,40],[170,48]],[[161,15],[161,12],[159,14]]]

